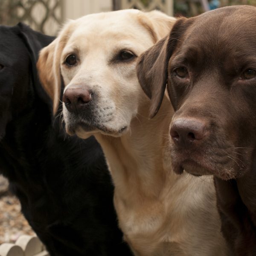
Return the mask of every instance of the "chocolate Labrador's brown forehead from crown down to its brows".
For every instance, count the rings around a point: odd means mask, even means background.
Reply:
[[[189,63],[200,65],[211,59],[211,63],[222,61],[241,62],[256,58],[256,8],[234,6],[220,8],[188,19],[191,26],[183,34],[171,57],[172,64]],[[228,57],[229,56],[229,57]]]

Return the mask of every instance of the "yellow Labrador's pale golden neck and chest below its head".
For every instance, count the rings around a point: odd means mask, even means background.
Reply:
[[[125,240],[134,255],[186,255],[180,248],[190,239],[190,230],[204,230],[209,225],[217,230],[209,233],[215,233],[222,247],[220,227],[215,226],[220,223],[213,183],[172,172],[168,131],[174,111],[169,99],[164,97],[153,119],[148,119],[148,109],[149,105],[139,109],[131,131],[122,137],[95,134],[110,167],[114,204]],[[203,214],[209,215],[207,222]],[[198,243],[196,236],[192,239]]]

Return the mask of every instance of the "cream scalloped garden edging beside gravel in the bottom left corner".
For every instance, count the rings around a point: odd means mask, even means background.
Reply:
[[[0,256],[50,256],[37,236],[20,236],[15,244],[0,245]]]

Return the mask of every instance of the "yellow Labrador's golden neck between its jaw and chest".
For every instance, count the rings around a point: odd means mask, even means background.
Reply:
[[[166,182],[166,172],[171,172],[164,165],[171,104],[165,97],[153,119],[148,118],[148,109],[138,110],[130,131],[122,137],[95,135],[108,160],[116,194],[126,203],[133,197],[137,197],[136,202],[140,201],[138,197],[157,198]]]

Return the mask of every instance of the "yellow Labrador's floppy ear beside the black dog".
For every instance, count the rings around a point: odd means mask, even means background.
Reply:
[[[39,79],[52,99],[54,114],[58,110],[61,95],[61,53],[70,38],[73,26],[73,20],[70,20],[58,37],[41,50],[37,62]]]

